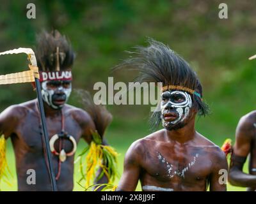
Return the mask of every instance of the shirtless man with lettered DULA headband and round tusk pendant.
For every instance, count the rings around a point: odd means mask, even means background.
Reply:
[[[58,191],[72,191],[74,153],[80,138],[90,143],[95,124],[80,108],[67,105],[71,92],[74,52],[58,31],[42,33],[36,52],[42,98],[51,138],[52,164]],[[19,191],[51,191],[51,182],[42,144],[42,125],[38,101],[12,105],[0,114],[0,131],[12,140]],[[35,170],[35,184],[28,184],[27,171]],[[106,176],[98,182],[106,183]]]

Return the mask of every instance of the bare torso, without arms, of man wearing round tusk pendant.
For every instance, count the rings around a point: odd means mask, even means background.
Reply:
[[[29,101],[24,103],[24,114],[15,133],[11,136],[13,149],[15,151],[16,169],[18,175],[19,191],[51,191],[51,182],[47,170],[47,161],[44,145],[42,145],[42,125],[37,103]],[[65,131],[72,135],[78,143],[82,134],[82,129],[78,122],[74,120],[72,110],[75,108],[65,105],[63,107],[63,117],[65,118]],[[61,115],[56,117],[46,117],[47,130],[49,137],[61,133]],[[65,152],[72,150],[72,143],[69,140],[63,141]],[[54,145],[59,150],[59,141]],[[54,165],[55,175],[60,170],[60,178],[56,181],[58,191],[72,191],[73,189],[73,172],[74,172],[74,155],[68,156],[66,161],[58,166],[58,156],[52,154],[52,163]],[[61,169],[59,169],[61,168]],[[29,169],[35,170],[35,184],[28,184],[27,174]]]

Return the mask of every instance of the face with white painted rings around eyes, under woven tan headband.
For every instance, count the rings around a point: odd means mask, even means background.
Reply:
[[[189,115],[191,96],[183,91],[164,91],[161,99],[161,117],[164,128],[179,129]]]

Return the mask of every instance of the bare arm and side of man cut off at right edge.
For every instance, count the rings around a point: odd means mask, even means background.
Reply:
[[[233,186],[248,187],[256,190],[256,111],[244,115],[237,125],[236,143],[234,145],[228,181]],[[249,174],[243,172],[246,157],[250,154]]]

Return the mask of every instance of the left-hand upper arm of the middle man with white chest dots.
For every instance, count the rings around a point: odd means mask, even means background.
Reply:
[[[116,191],[135,191],[140,179],[140,142],[132,143],[124,159],[124,173]]]

